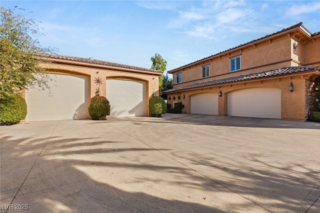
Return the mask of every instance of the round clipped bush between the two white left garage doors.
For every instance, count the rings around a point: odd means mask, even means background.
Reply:
[[[95,95],[94,97],[91,97],[88,111],[92,120],[105,119],[104,117],[106,115],[110,115],[110,103],[106,97]]]

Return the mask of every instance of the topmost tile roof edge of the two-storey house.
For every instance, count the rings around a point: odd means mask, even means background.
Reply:
[[[216,53],[216,54],[212,54],[212,55],[210,55],[210,56],[207,56],[207,57],[204,57],[204,58],[202,58],[202,59],[196,60],[196,61],[194,61],[194,62],[185,64],[185,65],[183,65],[183,66],[179,66],[179,67],[177,67],[177,68],[168,70],[168,73],[170,73],[170,72],[172,72],[172,71],[174,71],[174,70],[176,70],[176,69],[180,69],[180,68],[182,68],[182,67],[188,66],[188,65],[190,65],[190,64],[194,64],[194,63],[197,63],[197,62],[199,62],[199,61],[208,59],[208,58],[210,58],[210,57],[219,55],[219,54],[221,54],[221,53],[230,51],[230,50],[232,50],[232,49],[236,49],[236,48],[238,48],[238,47],[247,45],[247,44],[249,44],[249,43],[253,43],[253,42],[255,42],[255,41],[262,40],[262,39],[264,39],[264,38],[267,38],[267,37],[270,37],[270,36],[272,36],[272,35],[278,34],[278,33],[280,33],[280,32],[284,32],[284,31],[293,29],[293,28],[298,27],[298,26],[301,27],[301,28],[303,28],[304,31],[306,31],[307,33],[309,33],[309,34],[311,35],[311,32],[310,32],[309,30],[307,30],[307,29],[302,25],[302,22],[299,22],[299,23],[296,23],[296,24],[294,24],[294,25],[292,25],[292,26],[290,26],[290,27],[288,27],[288,28],[284,28],[284,29],[282,29],[282,30],[280,30],[280,31],[274,32],[274,33],[272,33],[272,34],[267,34],[267,35],[265,35],[265,36],[263,36],[263,37],[260,37],[260,38],[258,38],[258,39],[251,40],[251,41],[249,41],[249,42],[246,42],[246,43],[240,44],[240,45],[238,45],[238,46],[235,46],[235,47],[233,47],[233,48],[229,48],[229,49],[227,49],[227,50],[218,52],[218,53]],[[315,35],[315,34],[316,34],[316,33],[313,33],[312,35]]]

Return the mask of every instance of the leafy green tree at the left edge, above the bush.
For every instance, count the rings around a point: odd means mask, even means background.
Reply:
[[[10,96],[37,85],[48,88],[49,75],[40,66],[47,63],[46,53],[52,48],[43,48],[32,36],[42,35],[39,21],[15,13],[23,9],[0,7],[0,98]]]

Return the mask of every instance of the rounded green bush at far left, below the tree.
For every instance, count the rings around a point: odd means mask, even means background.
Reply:
[[[26,116],[26,102],[20,93],[0,101],[0,125],[12,125]]]

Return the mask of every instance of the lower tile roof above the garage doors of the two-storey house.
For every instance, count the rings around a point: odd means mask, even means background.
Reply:
[[[286,66],[279,69],[272,69],[272,70],[256,72],[252,74],[239,75],[235,77],[227,77],[223,79],[217,79],[217,80],[212,80],[212,81],[207,81],[202,83],[194,83],[194,84],[183,86],[180,88],[168,89],[168,90],[162,91],[162,93],[174,92],[174,91],[179,91],[184,89],[199,88],[199,87],[205,87],[205,86],[211,86],[211,85],[219,85],[224,83],[253,80],[253,79],[259,79],[259,78],[265,78],[265,77],[285,75],[290,73],[316,71],[316,70],[320,71],[320,66]]]

